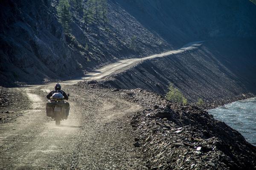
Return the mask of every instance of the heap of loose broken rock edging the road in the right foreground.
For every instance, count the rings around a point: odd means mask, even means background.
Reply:
[[[96,81],[76,86],[111,91],[143,106],[131,126],[134,147],[144,154],[149,169],[256,169],[256,147],[203,107],[170,103],[143,89],[111,89]]]

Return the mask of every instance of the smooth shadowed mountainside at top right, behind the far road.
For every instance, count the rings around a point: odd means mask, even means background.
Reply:
[[[216,37],[255,37],[249,0],[113,0],[175,46]]]

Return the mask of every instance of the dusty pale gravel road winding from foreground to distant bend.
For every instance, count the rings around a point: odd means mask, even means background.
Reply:
[[[119,61],[87,74],[86,79],[102,79],[141,60],[193,49],[200,43]],[[131,115],[143,107],[104,90],[78,89],[73,85],[78,81],[60,82],[70,93],[70,115],[60,126],[45,112],[45,96],[55,84],[13,89],[28,96],[32,109],[0,124],[0,169],[146,169],[142,153],[133,146],[130,125]]]

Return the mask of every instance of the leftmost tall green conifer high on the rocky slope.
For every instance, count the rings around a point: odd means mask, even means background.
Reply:
[[[70,22],[71,22],[71,14],[70,14],[70,4],[68,0],[60,0],[57,6],[57,12],[59,21],[64,29],[65,34],[70,33]]]

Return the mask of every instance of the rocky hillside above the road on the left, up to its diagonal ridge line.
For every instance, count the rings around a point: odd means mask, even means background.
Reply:
[[[108,30],[96,21],[84,29],[82,14],[71,9],[71,35],[67,36],[58,21],[57,4],[56,0],[0,2],[0,84],[74,77],[119,58],[172,49],[111,2]]]

